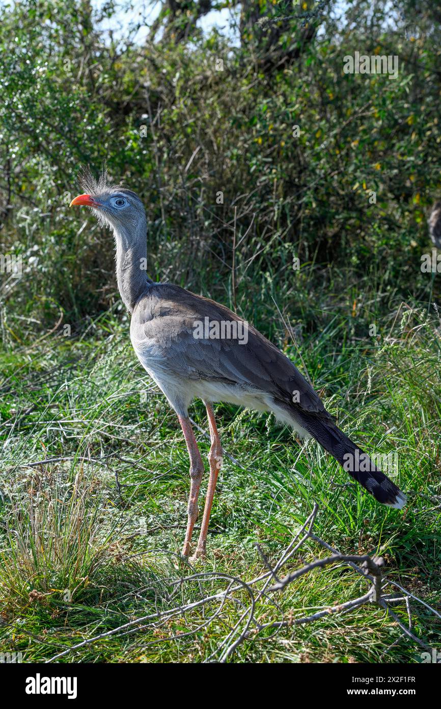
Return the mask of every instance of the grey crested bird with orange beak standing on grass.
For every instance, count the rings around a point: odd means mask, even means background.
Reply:
[[[200,398],[207,409],[211,447],[210,478],[195,557],[205,555],[222,445],[213,402],[227,401],[256,411],[272,411],[302,437],[314,437],[374,498],[402,508],[406,496],[334,423],[321,399],[288,357],[235,313],[180,286],[155,283],[146,272],[147,221],[139,196],[98,181],[86,171],[85,194],[71,201],[86,205],[113,230],[116,274],[122,301],[131,315],[130,338],[139,362],[178,415],[190,457],[190,498],[183,555],[190,554],[197,497],[204,465],[188,418]]]

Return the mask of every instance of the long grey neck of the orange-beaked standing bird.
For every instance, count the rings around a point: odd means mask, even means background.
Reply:
[[[129,313],[153,281],[147,276],[147,223],[145,216],[130,225],[114,228],[116,242],[116,277],[122,302]]]

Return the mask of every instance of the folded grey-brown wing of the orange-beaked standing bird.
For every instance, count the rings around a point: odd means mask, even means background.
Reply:
[[[197,337],[199,323],[244,323],[228,308],[179,286],[149,289],[132,314],[132,342],[154,366],[183,379],[250,387],[288,406],[328,416],[321,399],[285,354],[251,325],[240,339]],[[246,333],[246,334],[245,334]],[[247,341],[246,341],[247,338]]]

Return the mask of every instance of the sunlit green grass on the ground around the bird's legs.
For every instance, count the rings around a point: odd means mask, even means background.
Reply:
[[[345,554],[381,553],[389,579],[440,611],[440,320],[427,305],[394,303],[381,314],[374,298],[361,298],[362,307],[354,300],[360,303],[360,293],[318,306],[320,327],[304,333],[299,350],[340,426],[369,452],[397,454],[406,510],[379,506],[315,442],[299,445],[272,417],[219,404],[219,430],[232,459],[225,458],[219,475],[197,578],[179,556],[189,489],[183,437],[134,357],[127,323],[108,313],[93,323],[91,337],[54,336],[4,353],[2,652],[44,661],[138,618],[219,593],[228,586],[220,574],[249,581],[266,570],[256,542],[275,562],[314,502],[316,535]],[[298,308],[294,317],[285,313],[294,324],[295,315],[305,316],[302,303]],[[264,321],[265,311],[259,313]],[[376,337],[367,334],[372,322]],[[256,324],[271,330],[302,368],[281,321]],[[202,403],[191,415],[207,431]],[[207,437],[198,429],[196,435],[206,455]],[[202,493],[206,483],[207,471]],[[282,574],[323,555],[309,540]],[[350,569],[316,570],[279,596],[256,601],[256,618],[309,615],[366,590]],[[219,659],[231,628],[243,627],[239,601],[246,598],[239,591],[220,611],[219,602],[196,606],[157,627],[134,623],[60,661]],[[404,603],[394,610],[406,621]],[[413,632],[440,648],[440,619],[416,603],[411,610]],[[388,650],[400,635],[393,618],[368,604],[295,629],[251,632],[229,661],[420,661],[422,648],[410,639]]]

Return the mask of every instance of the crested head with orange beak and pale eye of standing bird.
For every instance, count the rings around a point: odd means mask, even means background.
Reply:
[[[84,194],[79,194],[69,206],[91,207],[98,221],[109,226],[115,235],[130,238],[145,221],[144,205],[130,189],[108,182],[107,172],[101,171],[96,180],[90,169],[81,173],[80,184]]]

